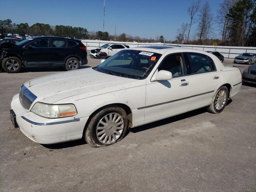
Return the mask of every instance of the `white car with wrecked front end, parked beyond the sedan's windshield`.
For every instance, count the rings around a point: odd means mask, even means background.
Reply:
[[[129,48],[126,44],[104,44],[101,47],[98,47],[96,49],[92,49],[90,51],[91,58],[99,58],[99,59],[106,59],[117,52]]]

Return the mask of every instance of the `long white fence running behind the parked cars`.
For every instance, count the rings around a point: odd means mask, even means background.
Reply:
[[[178,44],[164,44],[164,43],[137,43],[137,42],[119,42],[119,41],[102,41],[102,40],[82,40],[82,43],[86,45],[87,50],[95,49],[106,43],[122,43],[130,47],[139,46],[182,46],[201,51],[218,51],[224,58],[233,59],[242,53],[256,53],[256,47],[232,47],[232,46],[204,46],[204,45],[178,45]]]

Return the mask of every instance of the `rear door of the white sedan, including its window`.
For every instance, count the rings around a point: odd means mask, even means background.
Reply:
[[[190,74],[190,108],[206,106],[212,101],[215,90],[218,89],[220,73],[207,55],[186,52],[185,58]]]

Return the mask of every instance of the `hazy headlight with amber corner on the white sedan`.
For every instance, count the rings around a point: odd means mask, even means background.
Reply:
[[[37,102],[31,111],[46,118],[69,117],[77,114],[74,104],[46,104]]]

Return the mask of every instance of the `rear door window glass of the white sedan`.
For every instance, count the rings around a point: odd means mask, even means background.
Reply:
[[[200,53],[187,53],[191,73],[202,73],[216,70],[213,60]]]

